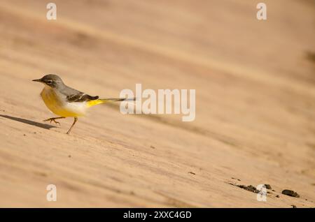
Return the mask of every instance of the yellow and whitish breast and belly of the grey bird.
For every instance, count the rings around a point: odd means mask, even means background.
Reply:
[[[41,91],[41,98],[47,108],[60,117],[80,117],[85,115],[87,105],[85,103],[66,103],[62,101],[60,96],[57,96],[53,89],[45,87]]]

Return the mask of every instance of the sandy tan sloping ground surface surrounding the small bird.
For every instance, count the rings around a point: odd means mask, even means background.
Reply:
[[[267,21],[256,1],[54,2],[56,21],[0,3],[0,207],[315,207],[314,1],[266,0]],[[44,73],[101,97],[196,89],[196,119],[99,105],[66,135]]]

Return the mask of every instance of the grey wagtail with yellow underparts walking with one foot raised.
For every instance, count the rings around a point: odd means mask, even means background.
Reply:
[[[67,134],[71,132],[78,117],[85,115],[88,108],[93,105],[106,103],[109,101],[135,101],[136,98],[99,98],[99,96],[90,96],[76,89],[67,87],[58,75],[48,74],[35,82],[41,82],[45,85],[41,91],[41,98],[50,111],[59,117],[52,117],[44,121],[53,121],[59,124],[56,119],[74,117],[73,124]]]

